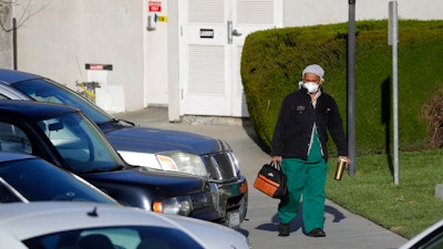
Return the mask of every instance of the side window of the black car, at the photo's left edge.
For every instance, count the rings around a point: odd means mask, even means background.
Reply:
[[[32,154],[27,134],[18,126],[0,122],[0,151]]]

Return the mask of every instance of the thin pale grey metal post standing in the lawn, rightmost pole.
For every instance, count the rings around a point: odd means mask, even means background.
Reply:
[[[391,43],[392,43],[392,97],[393,97],[393,133],[394,133],[394,184],[399,184],[399,80],[398,80],[398,48],[399,29],[398,29],[398,13],[396,1],[389,2],[390,10],[390,29],[391,29]]]

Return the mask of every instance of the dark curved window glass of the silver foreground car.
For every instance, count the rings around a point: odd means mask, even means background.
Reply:
[[[30,249],[200,249],[185,232],[156,226],[121,226],[60,231],[27,239]]]

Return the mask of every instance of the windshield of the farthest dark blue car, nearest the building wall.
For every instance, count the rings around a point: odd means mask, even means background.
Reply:
[[[35,101],[64,104],[79,108],[96,124],[115,121],[113,116],[83,98],[74,91],[49,79],[18,82],[12,84],[12,86]]]

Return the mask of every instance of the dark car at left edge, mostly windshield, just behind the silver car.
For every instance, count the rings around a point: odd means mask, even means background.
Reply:
[[[0,203],[49,200],[117,205],[86,180],[40,157],[0,152]]]

